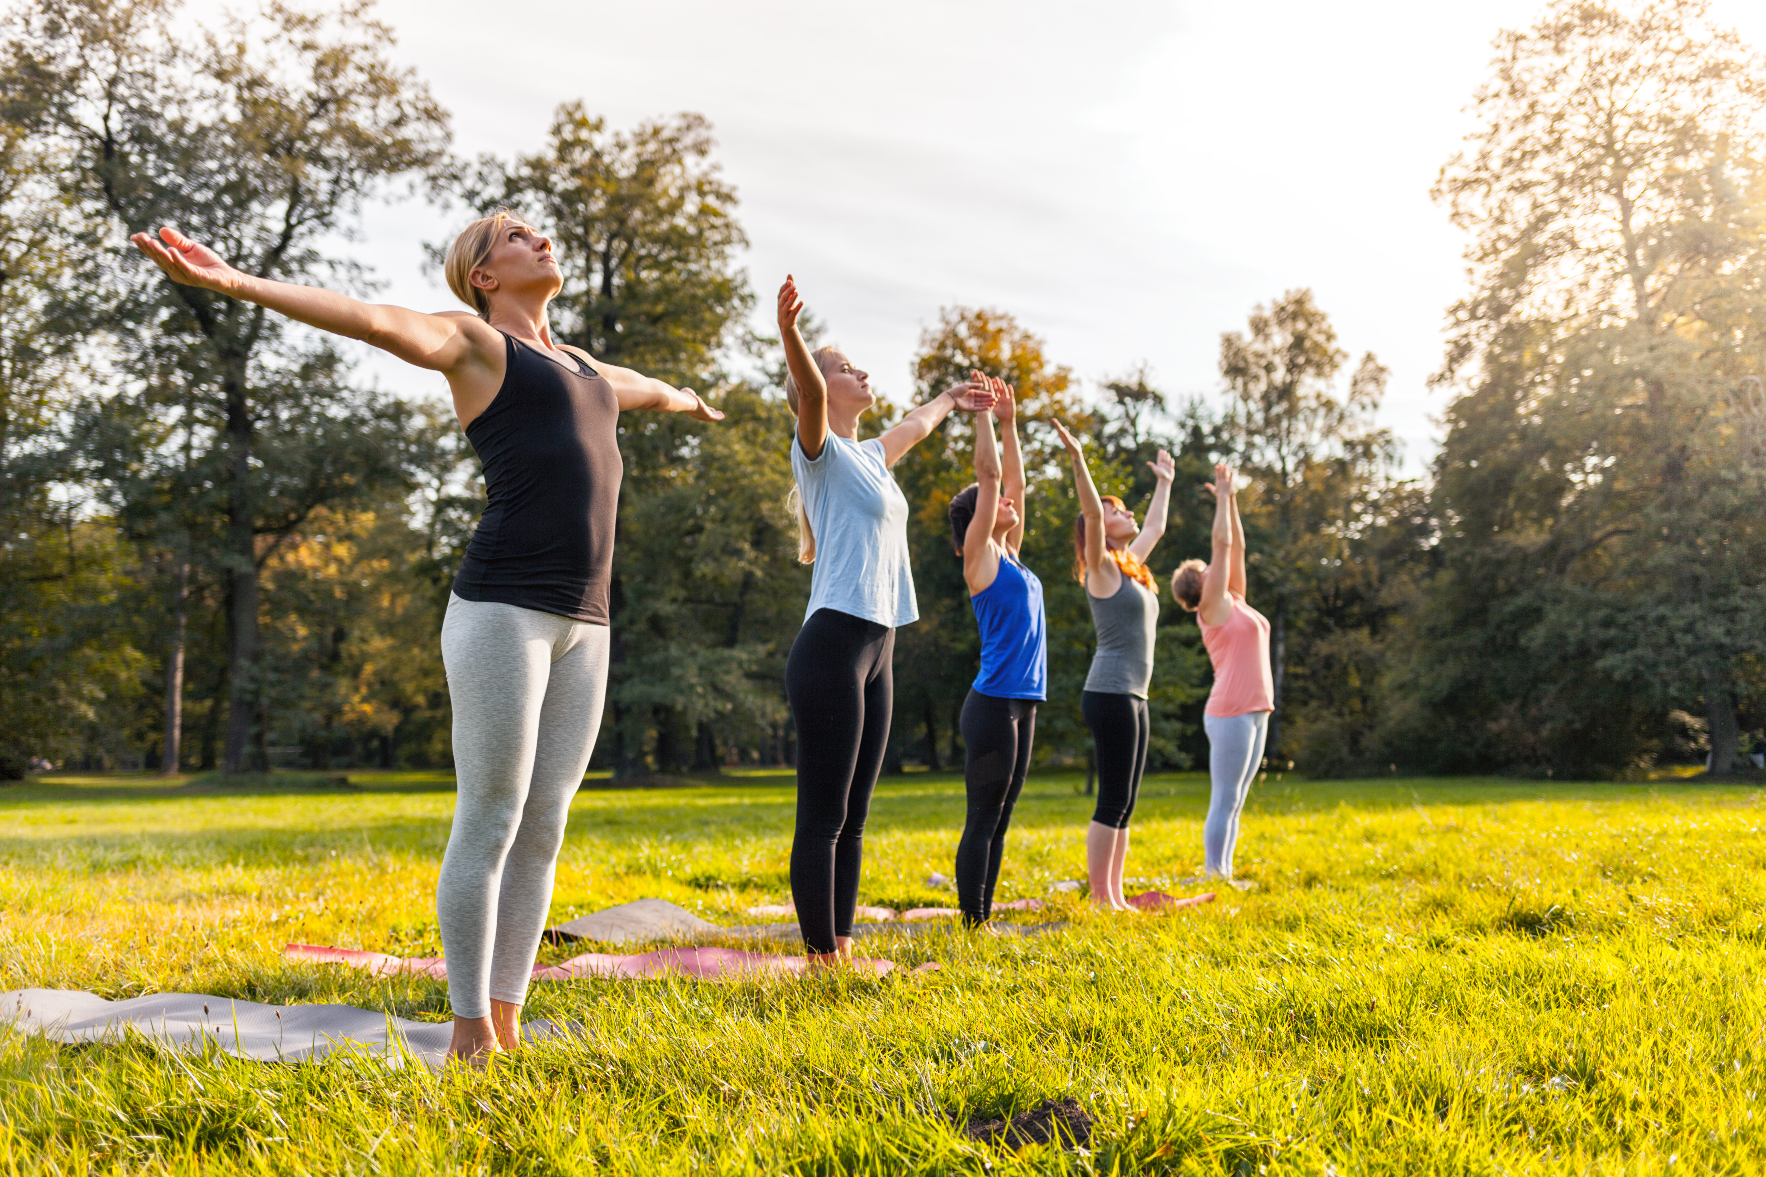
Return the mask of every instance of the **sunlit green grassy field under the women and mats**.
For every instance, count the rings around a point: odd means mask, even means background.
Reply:
[[[426,775],[245,796],[0,789],[0,988],[344,1001],[429,981],[288,941],[440,953],[454,805]],[[585,789],[555,918],[655,895],[728,923],[786,896],[788,776]],[[1001,898],[1083,873],[1090,806],[1031,780]],[[948,903],[962,787],[879,789],[862,902]],[[1206,782],[1150,778],[1128,873],[1197,861]],[[491,1073],[178,1061],[0,1032],[0,1173],[1642,1173],[1766,1165],[1766,796],[1498,780],[1266,782],[1229,891],[1065,932],[867,949],[925,978],[535,986],[585,1039]],[[546,949],[551,958],[570,955]],[[1083,1151],[962,1124],[1074,1098]]]

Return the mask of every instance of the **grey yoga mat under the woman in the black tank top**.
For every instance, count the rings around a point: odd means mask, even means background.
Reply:
[[[131,1031],[168,1050],[201,1053],[208,1045],[237,1059],[316,1062],[334,1053],[369,1057],[387,1066],[413,1059],[431,1069],[447,1061],[449,1022],[406,1022],[355,1006],[261,1006],[208,993],[154,993],[106,1001],[65,988],[0,993],[0,1025],[58,1043],[117,1041]],[[521,1027],[526,1041],[569,1031],[551,1022]]]

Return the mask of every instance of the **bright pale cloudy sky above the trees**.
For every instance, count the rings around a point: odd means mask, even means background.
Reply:
[[[1146,364],[1173,397],[1217,397],[1220,334],[1310,288],[1346,376],[1365,351],[1392,371],[1381,418],[1420,473],[1445,408],[1427,381],[1466,289],[1464,238],[1429,191],[1473,127],[1491,41],[1542,7],[381,0],[378,16],[461,155],[539,148],[570,99],[615,127],[708,116],[756,325],[795,274],[828,342],[895,401],[947,305],[1010,312],[1090,390]],[[1766,4],[1713,14],[1766,46]],[[350,249],[380,298],[457,309],[424,245],[464,217],[378,205]],[[442,392],[390,358],[367,371]]]

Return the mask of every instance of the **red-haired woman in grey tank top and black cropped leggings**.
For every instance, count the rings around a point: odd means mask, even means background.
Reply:
[[[1098,803],[1086,829],[1086,875],[1093,903],[1134,911],[1121,893],[1121,872],[1128,861],[1128,817],[1146,769],[1146,688],[1153,681],[1153,635],[1158,626],[1158,591],[1146,558],[1166,533],[1176,469],[1164,450],[1157,462],[1148,462],[1158,485],[1146,508],[1146,526],[1137,528],[1134,512],[1121,499],[1098,494],[1074,434],[1060,422],[1054,429],[1074,461],[1074,487],[1079,492],[1074,579],[1084,586],[1091,621],[1098,628],[1097,653],[1091,655],[1081,697],[1098,769]]]

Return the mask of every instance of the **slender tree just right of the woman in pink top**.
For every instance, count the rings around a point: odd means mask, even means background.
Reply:
[[[1386,369],[1362,356],[1346,394],[1337,376],[1347,360],[1337,330],[1312,291],[1293,289],[1250,314],[1249,334],[1220,335],[1220,378],[1231,402],[1224,436],[1256,480],[1247,512],[1250,575],[1270,602],[1270,663],[1275,711],[1268,753],[1284,755],[1282,695],[1287,637],[1309,602],[1333,536],[1365,519],[1365,499],[1392,462],[1390,432],[1374,425]]]

